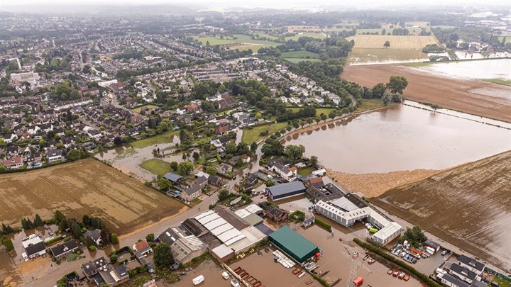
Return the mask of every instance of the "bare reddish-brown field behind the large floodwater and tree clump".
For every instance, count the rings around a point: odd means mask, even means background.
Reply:
[[[343,79],[363,86],[386,83],[392,75],[406,77],[405,98],[436,103],[444,108],[511,122],[511,88],[471,79],[436,77],[420,69],[402,65],[349,66]]]

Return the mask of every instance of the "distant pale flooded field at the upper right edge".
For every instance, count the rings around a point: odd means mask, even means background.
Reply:
[[[511,80],[511,59],[444,62],[430,64],[419,69],[456,79]]]

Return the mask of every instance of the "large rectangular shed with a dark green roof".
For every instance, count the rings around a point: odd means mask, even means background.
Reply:
[[[292,257],[292,259],[295,259],[300,264],[314,257],[314,254],[319,252],[319,248],[316,245],[287,226],[273,232],[269,240],[275,247],[278,247],[287,256]]]

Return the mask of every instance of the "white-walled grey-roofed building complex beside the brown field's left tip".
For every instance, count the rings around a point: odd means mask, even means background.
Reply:
[[[400,236],[403,230],[401,225],[378,213],[353,193],[344,194],[331,201],[320,200],[316,203],[315,210],[346,227],[357,221],[367,220],[368,223],[380,228],[371,239],[382,245]]]

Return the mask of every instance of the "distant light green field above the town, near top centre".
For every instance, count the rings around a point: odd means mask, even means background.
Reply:
[[[234,39],[236,38],[236,39]],[[251,39],[248,35],[236,34],[234,38],[224,38],[221,39],[219,37],[207,36],[207,37],[194,37],[194,40],[198,40],[202,45],[206,45],[209,42],[209,45],[226,45],[231,49],[238,50],[248,50],[252,49],[253,52],[257,52],[260,47],[275,47],[280,45],[280,43],[271,42],[271,41],[263,41],[263,40],[254,40]]]

